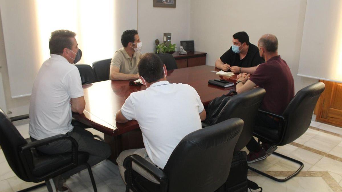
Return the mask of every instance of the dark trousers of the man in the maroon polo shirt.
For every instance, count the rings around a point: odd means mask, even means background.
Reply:
[[[261,127],[268,127],[270,129],[278,129],[279,122],[272,119],[270,116],[259,113],[257,114],[257,120],[255,121],[256,127],[254,129],[257,129],[257,126]],[[252,152],[259,152],[261,150],[261,146],[259,143],[254,139],[254,137],[251,138],[251,140],[247,144],[247,149]]]

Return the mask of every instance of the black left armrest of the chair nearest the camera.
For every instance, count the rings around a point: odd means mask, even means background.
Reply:
[[[123,161],[123,166],[127,169],[129,167],[132,167],[132,161],[145,169],[148,173],[150,173],[154,178],[157,179],[157,181],[164,182],[168,179],[168,176],[165,175],[165,173],[157,168],[155,165],[152,165],[150,162],[146,161],[143,157],[139,155],[130,155],[125,158]]]

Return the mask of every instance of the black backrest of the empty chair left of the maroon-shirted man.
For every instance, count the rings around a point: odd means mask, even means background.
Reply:
[[[245,93],[237,94],[222,108],[215,123],[222,122],[231,118],[244,120],[239,140],[236,143],[235,151],[244,148],[253,136],[254,124],[257,118],[258,109],[264,99],[266,91],[257,87]]]

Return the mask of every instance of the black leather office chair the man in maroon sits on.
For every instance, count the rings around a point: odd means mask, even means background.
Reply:
[[[314,83],[307,87],[302,88],[290,101],[285,111],[281,115],[276,115],[266,111],[259,110],[280,119],[278,129],[270,129],[267,127],[255,126],[254,136],[258,137],[262,142],[270,145],[283,146],[286,145],[300,136],[302,136],[307,128],[310,126],[313,111],[315,109],[317,100],[321,93],[324,91],[325,85],[322,82]],[[261,172],[253,167],[249,169],[264,175],[270,179],[278,182],[284,182],[296,176],[304,167],[304,164],[298,160],[292,159],[288,156],[273,152],[273,154],[295,162],[300,165],[297,171],[285,179],[278,179],[271,175]]]

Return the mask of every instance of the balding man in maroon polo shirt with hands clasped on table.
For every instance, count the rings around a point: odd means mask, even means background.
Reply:
[[[289,66],[278,55],[278,39],[271,34],[263,35],[258,41],[259,54],[265,59],[255,72],[251,74],[239,74],[236,82],[237,93],[243,93],[255,86],[266,90],[266,95],[261,104],[261,109],[275,114],[281,114],[290,100],[294,97],[294,83]],[[277,129],[279,119],[272,118],[263,113],[258,113],[256,125]],[[258,142],[252,137],[247,144],[250,151],[247,155],[247,162],[254,163],[266,159],[276,146],[270,146]]]

